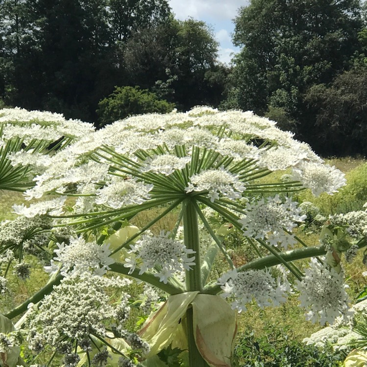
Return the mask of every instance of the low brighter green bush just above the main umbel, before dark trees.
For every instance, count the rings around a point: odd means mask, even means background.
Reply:
[[[98,107],[100,126],[104,126],[131,115],[165,114],[171,112],[175,105],[139,87],[116,87],[108,98],[99,102]]]

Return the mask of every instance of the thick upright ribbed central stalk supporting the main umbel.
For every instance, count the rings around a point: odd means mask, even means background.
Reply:
[[[198,215],[195,209],[195,199],[188,198],[184,212],[184,244],[187,249],[195,251],[195,265],[192,270],[186,271],[186,288],[188,292],[202,291],[201,263],[200,263],[200,239],[198,228]],[[200,354],[194,337],[193,310],[186,311],[187,319],[187,342],[189,367],[208,367],[205,359]]]

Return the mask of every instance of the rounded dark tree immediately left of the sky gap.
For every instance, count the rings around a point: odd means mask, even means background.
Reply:
[[[228,74],[217,63],[218,43],[204,22],[169,22],[132,35],[123,59],[129,84],[153,89],[182,110],[217,106]]]

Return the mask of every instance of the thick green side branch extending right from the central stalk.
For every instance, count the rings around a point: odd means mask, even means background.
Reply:
[[[364,246],[366,246],[366,243]],[[281,259],[283,261],[295,261],[295,260],[305,259],[308,257],[324,255],[325,253],[326,253],[326,250],[323,246],[315,246],[315,247],[308,247],[306,249],[302,248],[302,249],[281,252],[279,253],[279,255],[281,256]],[[237,271],[244,272],[245,270],[249,270],[249,269],[262,270],[262,269],[269,268],[271,266],[275,266],[279,264],[282,264],[282,261],[280,261],[278,256],[268,255],[268,256],[262,257],[261,259],[256,259],[245,265],[242,265],[241,267],[237,268]],[[203,293],[210,294],[210,295],[217,295],[221,291],[222,289],[220,285],[211,284],[204,288]]]

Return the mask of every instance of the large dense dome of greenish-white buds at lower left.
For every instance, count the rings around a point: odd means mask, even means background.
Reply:
[[[112,303],[106,289],[121,292],[127,284],[126,279],[108,279],[88,273],[63,279],[38,308],[33,305],[28,311],[26,324],[30,348],[40,352],[48,344],[64,354],[65,361],[77,357],[73,353],[75,343],[83,350],[91,350],[91,334],[105,337],[106,327],[115,327],[115,315],[129,313],[124,301],[129,296],[122,292],[122,301]],[[127,307],[125,312],[123,307]],[[122,330],[123,321],[119,321]]]

